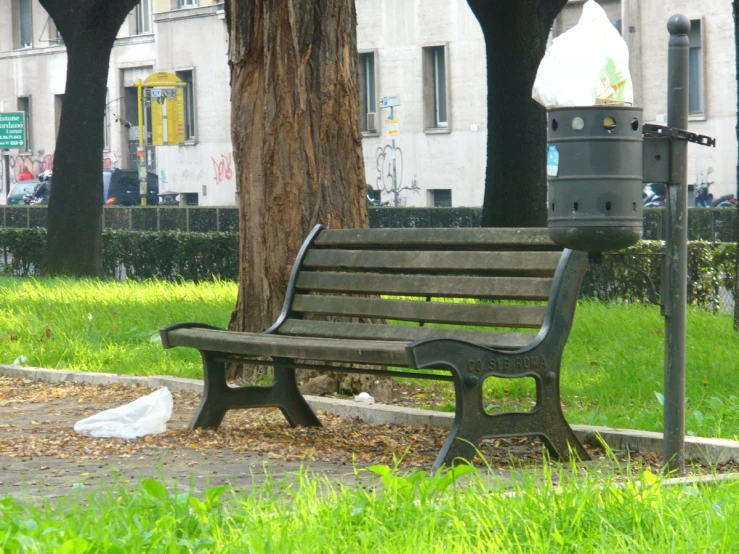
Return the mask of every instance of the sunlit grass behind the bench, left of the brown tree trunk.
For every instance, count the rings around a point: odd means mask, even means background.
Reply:
[[[232,282],[173,284],[0,278],[0,362],[132,375],[202,377],[195,350],[165,351],[158,329],[226,327]]]

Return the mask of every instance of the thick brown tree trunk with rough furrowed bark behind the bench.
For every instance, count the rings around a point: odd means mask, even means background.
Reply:
[[[316,223],[367,227],[354,0],[227,0],[240,213],[230,328],[263,331]]]

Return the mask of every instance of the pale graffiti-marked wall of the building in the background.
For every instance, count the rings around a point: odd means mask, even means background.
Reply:
[[[611,20],[621,18],[620,0],[601,0]],[[697,181],[707,169],[718,196],[736,191],[737,142],[736,79],[733,21],[729,0],[629,0],[629,39],[637,104],[645,121],[663,122],[666,112],[665,29],[668,17],[682,12],[703,18],[706,74],[706,111],[692,118],[690,130],[718,139],[718,148],[689,148],[689,179]],[[131,36],[124,23],[113,50],[108,76],[109,148],[106,164],[125,167],[129,133],[116,115],[125,115],[123,78],[132,72],[192,69],[196,102],[196,139],[183,146],[156,148],[156,167],[162,189],[197,193],[202,205],[235,203],[236,160],[230,143],[230,87],[227,33],[222,4],[201,0],[198,8],[173,9],[174,0],[152,0],[152,33]],[[582,0],[570,0],[554,34],[577,22]],[[419,193],[402,191],[401,203],[429,204],[428,191],[452,189],[453,206],[480,205],[484,195],[487,142],[486,62],[482,32],[466,0],[356,0],[358,48],[377,56],[377,93],[400,95],[395,110],[400,123],[396,144],[402,151],[400,186],[417,185]],[[19,96],[32,101],[32,149],[11,151],[11,175],[23,165],[40,170],[53,165],[55,147],[54,95],[63,94],[66,52],[63,46],[43,42],[48,17],[33,1],[33,48],[14,50],[12,1],[0,3],[0,109],[13,111]],[[423,115],[423,57],[426,46],[448,48],[448,132],[425,130]],[[366,181],[377,185],[377,150],[391,142],[378,113],[379,129],[363,137]],[[381,164],[380,164],[381,165]],[[17,171],[16,171],[17,170]],[[0,176],[2,164],[0,164]],[[391,194],[383,200],[392,201]]]

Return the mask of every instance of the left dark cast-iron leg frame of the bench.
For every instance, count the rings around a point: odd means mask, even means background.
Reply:
[[[266,387],[230,387],[224,361],[214,352],[202,352],[203,398],[190,427],[216,429],[228,410],[276,407],[292,425],[320,426],[316,414],[300,394],[290,360],[275,359],[275,378]]]

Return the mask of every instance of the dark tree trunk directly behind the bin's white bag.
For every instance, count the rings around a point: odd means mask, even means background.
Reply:
[[[531,87],[566,3],[468,0],[485,36],[488,66],[485,227],[546,226],[546,112],[532,100]]]

